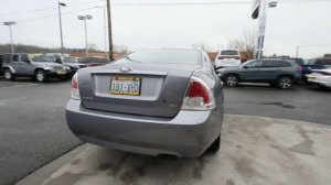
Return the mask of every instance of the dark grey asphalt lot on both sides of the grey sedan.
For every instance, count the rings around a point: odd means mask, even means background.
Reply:
[[[70,81],[0,80],[0,184],[17,182],[81,142],[65,123]],[[225,113],[331,124],[330,90],[242,85],[224,88]]]

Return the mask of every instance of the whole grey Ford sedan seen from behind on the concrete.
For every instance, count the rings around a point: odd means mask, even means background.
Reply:
[[[223,89],[207,54],[147,50],[79,69],[66,120],[82,141],[150,155],[220,149]]]

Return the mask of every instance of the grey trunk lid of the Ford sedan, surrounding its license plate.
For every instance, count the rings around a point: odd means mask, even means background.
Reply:
[[[200,68],[179,65],[108,65],[89,69],[83,74],[79,91],[83,106],[87,109],[154,117],[174,117],[182,105],[190,77]],[[86,68],[87,69],[87,68]],[[128,69],[129,72],[121,72]],[[116,95],[124,92],[136,81],[136,95]],[[114,88],[115,85],[124,85]],[[117,84],[116,84],[117,83]],[[126,85],[128,84],[129,85]],[[121,89],[121,90],[120,90]],[[115,92],[115,94],[114,94]]]

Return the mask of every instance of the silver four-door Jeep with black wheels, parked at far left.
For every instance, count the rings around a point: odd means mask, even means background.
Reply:
[[[40,83],[45,81],[47,77],[58,77],[64,80],[68,70],[65,65],[54,63],[52,56],[26,53],[4,54],[2,65],[3,76],[8,80],[20,76],[33,77]]]

